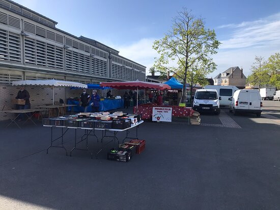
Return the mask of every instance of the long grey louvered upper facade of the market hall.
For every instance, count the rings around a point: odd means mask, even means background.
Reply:
[[[95,40],[61,31],[55,24],[14,2],[0,0],[0,84],[48,78],[82,83],[145,81],[146,67]]]

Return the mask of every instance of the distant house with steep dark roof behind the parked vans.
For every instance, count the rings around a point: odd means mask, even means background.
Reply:
[[[245,84],[246,77],[243,74],[243,69],[239,67],[231,67],[214,77],[214,85],[233,85],[244,88]]]

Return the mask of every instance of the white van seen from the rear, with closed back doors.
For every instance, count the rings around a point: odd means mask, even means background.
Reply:
[[[230,112],[234,115],[238,112],[254,113],[261,116],[262,99],[257,89],[239,89],[229,98]]]

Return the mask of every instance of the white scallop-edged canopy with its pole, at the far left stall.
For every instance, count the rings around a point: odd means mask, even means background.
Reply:
[[[54,104],[54,87],[81,87],[88,88],[88,85],[78,82],[63,81],[63,80],[21,80],[13,81],[13,85],[36,85],[36,86],[50,86],[52,87],[52,105]]]

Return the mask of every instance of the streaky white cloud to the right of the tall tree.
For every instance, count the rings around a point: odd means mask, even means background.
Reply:
[[[217,70],[209,76],[215,77],[233,66],[243,67],[247,76],[255,55],[267,59],[280,51],[280,13],[255,21],[221,25],[218,28],[228,28],[230,36],[220,41],[222,44],[214,55]]]

